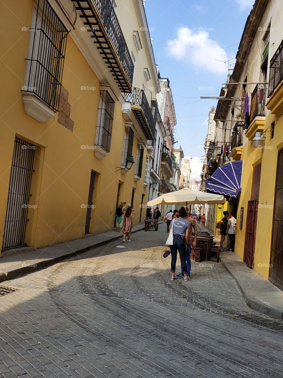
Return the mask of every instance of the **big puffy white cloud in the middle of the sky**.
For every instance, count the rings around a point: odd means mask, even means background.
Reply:
[[[175,59],[192,62],[198,68],[216,74],[225,73],[225,64],[214,59],[223,60],[225,57],[221,54],[227,54],[217,41],[209,38],[207,30],[211,29],[203,27],[194,33],[192,29],[185,26],[180,27],[177,31],[177,38],[167,42],[168,54]]]

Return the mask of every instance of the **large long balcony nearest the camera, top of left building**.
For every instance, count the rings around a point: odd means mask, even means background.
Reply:
[[[83,25],[110,68],[118,87],[131,92],[134,64],[122,29],[110,0],[76,0],[76,10]]]

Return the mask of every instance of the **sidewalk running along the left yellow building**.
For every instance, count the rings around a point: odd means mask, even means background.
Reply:
[[[132,234],[144,228],[145,223],[139,223],[134,226]],[[17,254],[0,258],[0,282],[44,268],[118,238],[122,239],[122,232],[109,231],[98,235],[86,235],[82,239],[75,239],[23,253],[21,253],[21,249],[18,249]]]

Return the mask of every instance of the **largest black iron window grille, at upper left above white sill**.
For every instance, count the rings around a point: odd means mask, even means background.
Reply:
[[[23,90],[58,111],[68,31],[47,0],[38,0],[30,33]]]

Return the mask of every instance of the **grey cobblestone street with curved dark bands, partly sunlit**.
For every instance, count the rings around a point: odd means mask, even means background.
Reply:
[[[283,377],[283,326],[221,263],[171,281],[166,237],[160,225],[3,283],[16,291],[0,299],[0,376]]]

